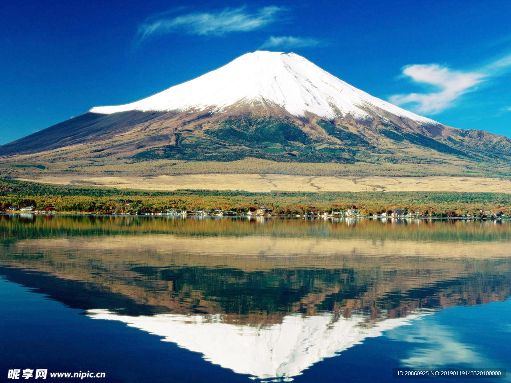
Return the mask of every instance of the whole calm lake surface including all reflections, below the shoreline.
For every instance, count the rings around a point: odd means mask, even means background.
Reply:
[[[0,216],[0,380],[509,370],[510,292],[509,222]]]

